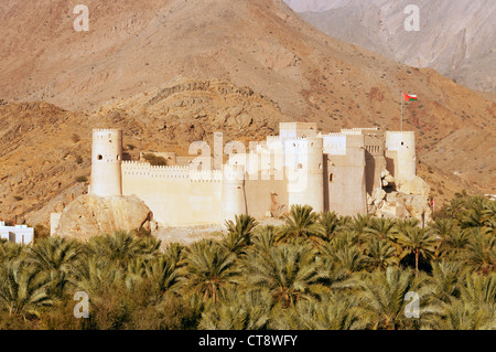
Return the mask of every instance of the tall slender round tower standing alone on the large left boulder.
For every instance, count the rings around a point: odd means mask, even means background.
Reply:
[[[122,130],[94,129],[89,193],[122,195]]]

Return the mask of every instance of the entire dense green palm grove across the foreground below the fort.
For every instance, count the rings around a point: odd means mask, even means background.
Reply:
[[[496,202],[457,196],[416,221],[293,206],[218,241],[147,235],[0,244],[0,329],[495,329]],[[74,294],[89,297],[76,319]],[[420,318],[407,318],[416,292]]]

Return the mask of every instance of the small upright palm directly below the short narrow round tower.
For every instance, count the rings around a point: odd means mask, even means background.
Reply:
[[[246,246],[251,244],[251,234],[258,222],[250,215],[236,215],[235,222],[226,221],[227,236],[224,236],[223,244],[229,250],[239,255]]]

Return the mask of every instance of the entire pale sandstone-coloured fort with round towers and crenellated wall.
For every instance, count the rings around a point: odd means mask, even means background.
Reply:
[[[95,129],[88,191],[136,195],[161,225],[182,226],[223,224],[237,214],[278,216],[293,204],[339,215],[367,214],[367,198],[382,189],[385,171],[396,180],[416,178],[412,131],[354,128],[323,134],[311,122],[281,122],[279,128],[279,136],[268,136],[248,152],[230,150],[226,163],[212,163],[211,156],[157,153],[166,157],[163,167],[141,157],[122,160],[122,130]]]

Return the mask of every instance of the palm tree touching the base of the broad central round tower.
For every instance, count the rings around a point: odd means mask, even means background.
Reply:
[[[303,237],[312,238],[319,233],[319,214],[310,205],[292,205],[290,215],[285,216],[282,238]]]

